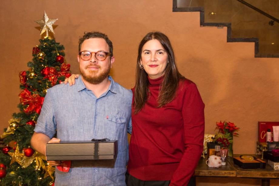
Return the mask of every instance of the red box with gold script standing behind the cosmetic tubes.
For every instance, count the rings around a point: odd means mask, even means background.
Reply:
[[[270,122],[270,121],[259,121],[258,122],[258,140],[259,142],[266,142],[266,132],[267,129],[271,130],[272,139],[273,140],[273,128],[272,126],[279,126],[279,122]]]

